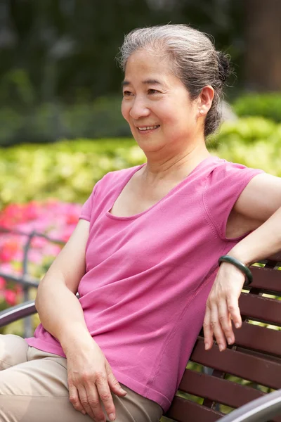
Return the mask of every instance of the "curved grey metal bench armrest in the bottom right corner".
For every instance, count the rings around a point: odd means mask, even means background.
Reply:
[[[267,422],[281,414],[281,390],[266,394],[219,419],[221,422]]]

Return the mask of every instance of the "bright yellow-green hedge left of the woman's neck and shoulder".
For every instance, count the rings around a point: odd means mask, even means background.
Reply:
[[[130,139],[25,145],[0,150],[0,209],[17,201],[58,198],[83,203],[103,175],[143,162]]]

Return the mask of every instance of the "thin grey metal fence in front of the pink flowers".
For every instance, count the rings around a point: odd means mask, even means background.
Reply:
[[[22,255],[22,268],[21,274],[7,274],[4,271],[1,271],[0,267],[0,276],[3,277],[6,281],[13,281],[14,283],[19,283],[22,286],[23,290],[23,300],[26,302],[30,300],[30,288],[37,288],[39,284],[39,279],[34,279],[28,273],[28,254],[31,250],[31,244],[33,238],[45,238],[47,241],[51,243],[57,243],[59,245],[65,245],[60,239],[51,238],[46,234],[39,233],[37,231],[31,231],[30,233],[26,233],[16,229],[6,229],[5,227],[0,226],[0,235],[1,233],[11,234],[11,235],[20,235],[25,236],[26,241],[23,245],[23,255]],[[32,337],[33,335],[33,328],[32,328],[32,319],[31,316],[27,316],[24,320],[24,336],[25,337]]]

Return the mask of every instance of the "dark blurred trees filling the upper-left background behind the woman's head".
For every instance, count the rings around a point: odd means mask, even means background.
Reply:
[[[241,61],[242,13],[231,0],[3,0],[0,106],[116,93],[122,76],[115,56],[124,34],[136,27],[192,23]]]

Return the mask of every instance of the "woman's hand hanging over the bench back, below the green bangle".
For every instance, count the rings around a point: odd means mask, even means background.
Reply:
[[[228,345],[235,342],[231,320],[236,328],[242,325],[238,299],[244,279],[242,271],[233,264],[221,263],[207,299],[203,324],[205,350],[211,349],[213,335],[220,351],[226,349],[226,342]]]

